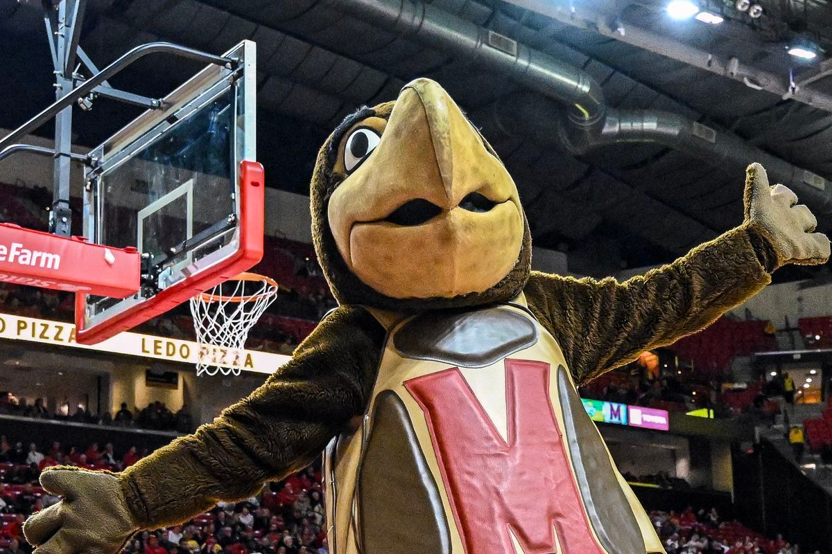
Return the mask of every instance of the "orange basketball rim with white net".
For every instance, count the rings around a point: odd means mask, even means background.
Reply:
[[[249,331],[277,295],[274,279],[240,273],[191,298],[196,343],[196,375],[240,375]]]

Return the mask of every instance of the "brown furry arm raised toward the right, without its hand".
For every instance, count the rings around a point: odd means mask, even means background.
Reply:
[[[524,292],[580,384],[710,325],[765,287],[776,259],[744,224],[623,283],[532,272]]]

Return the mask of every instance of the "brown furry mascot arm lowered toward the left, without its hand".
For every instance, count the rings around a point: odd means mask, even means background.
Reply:
[[[126,469],[121,487],[141,527],[183,522],[305,467],[364,413],[383,341],[368,312],[341,306],[248,398]]]

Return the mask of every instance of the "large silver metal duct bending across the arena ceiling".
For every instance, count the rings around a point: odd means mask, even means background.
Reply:
[[[666,145],[710,162],[745,166],[759,161],[770,179],[790,186],[816,213],[832,213],[832,182],[681,115],[653,110],[616,110],[586,71],[433,5],[411,0],[331,0],[337,9],[460,60],[487,67],[542,94],[508,98],[498,120],[508,134],[522,132],[572,154],[622,142]],[[554,105],[547,99],[557,101]],[[565,107],[565,116],[564,116]],[[518,116],[518,113],[522,114]]]

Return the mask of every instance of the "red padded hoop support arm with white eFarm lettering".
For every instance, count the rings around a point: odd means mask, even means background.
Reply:
[[[0,223],[0,282],[124,298],[139,290],[139,252]]]

